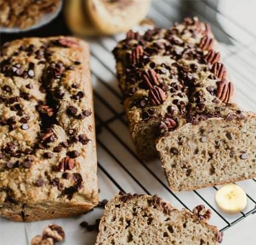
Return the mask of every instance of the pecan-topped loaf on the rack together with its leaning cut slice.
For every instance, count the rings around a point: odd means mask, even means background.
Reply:
[[[186,18],[129,31],[113,51],[137,152],[147,159],[157,149],[174,191],[256,175],[256,116],[231,102],[216,43],[208,24]]]

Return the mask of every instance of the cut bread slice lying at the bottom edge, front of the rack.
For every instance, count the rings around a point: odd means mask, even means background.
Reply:
[[[218,244],[203,205],[179,211],[154,195],[116,195],[105,207],[96,244]]]

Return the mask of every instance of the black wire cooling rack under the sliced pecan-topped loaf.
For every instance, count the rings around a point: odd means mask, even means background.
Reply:
[[[255,111],[256,83],[252,79],[256,68],[253,62],[256,33],[247,30],[243,23],[235,22],[216,7],[207,1],[153,1],[149,18],[157,26],[165,28],[171,27],[174,21],[180,21],[186,15],[199,16],[201,21],[209,22],[220,41],[222,59],[234,80],[238,103],[247,110]],[[100,171],[120,191],[158,194],[175,206],[190,210],[203,203],[212,210],[211,223],[223,231],[256,212],[254,179],[238,182],[248,197],[246,209],[237,215],[226,215],[215,205],[214,197],[218,186],[174,194],[168,188],[158,160],[147,163],[140,161],[131,143],[125,113],[120,105],[122,95],[117,87],[115,61],[111,54],[116,42],[124,37],[124,34],[120,34],[91,42]],[[250,93],[246,92],[249,90]]]

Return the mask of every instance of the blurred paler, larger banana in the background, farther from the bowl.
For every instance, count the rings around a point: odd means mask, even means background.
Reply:
[[[83,0],[97,30],[103,34],[128,31],[145,18],[151,0]]]

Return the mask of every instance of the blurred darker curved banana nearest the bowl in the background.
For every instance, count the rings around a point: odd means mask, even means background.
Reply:
[[[100,34],[91,23],[85,11],[85,0],[70,0],[65,2],[65,19],[68,27],[73,33],[84,36],[96,36]]]

